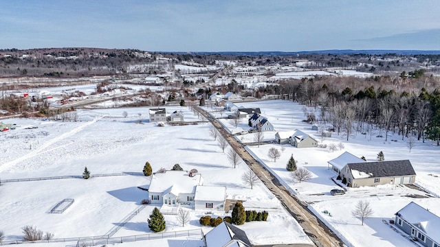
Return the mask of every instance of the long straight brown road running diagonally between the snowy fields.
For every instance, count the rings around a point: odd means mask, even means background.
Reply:
[[[270,174],[262,165],[258,163],[250,155],[239,141],[234,139],[234,135],[228,133],[223,126],[211,117],[205,110],[195,107],[206,119],[208,119],[213,126],[215,126],[225,139],[228,140],[230,146],[243,158],[243,161],[248,164],[250,169],[259,176],[263,184],[274,193],[274,195],[281,201],[283,207],[296,219],[296,221],[303,227],[305,233],[310,237],[311,241],[318,247],[330,246],[345,246],[344,243],[336,236],[325,224],[323,224],[318,217],[316,217],[309,209],[305,202],[301,202],[292,195],[278,180]],[[282,245],[278,245],[282,246]],[[289,245],[287,245],[289,246]],[[294,245],[290,245],[294,246]]]

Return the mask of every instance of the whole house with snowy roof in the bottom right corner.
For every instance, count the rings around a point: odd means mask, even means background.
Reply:
[[[440,246],[440,217],[415,202],[395,213],[394,224],[422,246]]]

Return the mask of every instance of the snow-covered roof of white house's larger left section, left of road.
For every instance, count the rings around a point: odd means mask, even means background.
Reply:
[[[151,175],[148,192],[153,193],[195,193],[195,187],[203,185],[201,174],[188,175],[186,171],[166,171]]]

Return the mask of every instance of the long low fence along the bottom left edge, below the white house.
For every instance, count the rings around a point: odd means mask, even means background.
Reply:
[[[77,242],[76,246],[80,246],[82,243],[97,245],[97,244],[117,244],[124,242],[137,242],[144,240],[152,240],[152,239],[164,239],[164,238],[172,238],[172,237],[200,237],[203,238],[203,231],[201,228],[192,229],[186,231],[174,231],[174,232],[165,232],[165,233],[146,233],[142,235],[131,235],[124,237],[107,237],[107,235],[95,236],[95,237],[71,237],[64,239],[50,239],[50,240],[39,240],[33,242],[25,242],[23,240],[14,240],[14,241],[3,241],[0,242],[0,246],[8,245],[8,244],[30,244],[30,243],[56,243],[56,242]]]

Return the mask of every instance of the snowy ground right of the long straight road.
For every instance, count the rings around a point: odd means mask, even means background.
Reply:
[[[268,102],[237,103],[238,106],[260,107],[261,113],[274,125],[276,131],[299,130],[310,134],[318,143],[321,143],[320,135],[316,130],[311,130],[311,124],[303,122],[303,106],[293,102],[274,100]],[[314,111],[314,109],[311,109]],[[218,113],[214,113],[220,117]],[[319,115],[316,111],[315,115]],[[224,115],[223,115],[224,116]],[[241,132],[248,130],[247,121],[243,121],[237,128],[234,128],[227,119],[222,119],[223,124],[228,126],[231,132]],[[275,137],[275,132],[264,132],[265,141],[271,141]],[[401,140],[401,136],[388,133],[388,141],[385,137],[376,137],[379,130],[375,131],[373,137],[363,134],[353,134],[347,141],[347,136],[333,132],[333,137],[325,138],[322,143],[343,143],[342,150],[331,150],[323,148],[294,148],[292,145],[265,144],[257,148],[255,145],[248,146],[248,150],[254,153],[268,169],[271,169],[278,178],[283,180],[292,193],[309,204],[312,211],[318,213],[319,217],[336,232],[348,246],[414,246],[408,239],[397,234],[382,220],[394,219],[395,213],[409,202],[416,202],[429,209],[432,213],[440,215],[440,147],[432,141],[417,141],[414,148],[409,152],[406,143]],[[382,135],[384,135],[382,133]],[[253,134],[238,136],[246,142],[253,142]],[[397,140],[397,141],[391,141]],[[267,152],[270,148],[285,150],[281,158],[274,163]],[[377,187],[347,188],[348,191],[343,196],[331,196],[330,190],[338,186],[333,183],[331,178],[336,178],[337,174],[328,169],[327,161],[338,157],[343,152],[350,152],[355,156],[365,156],[367,161],[375,161],[377,153],[384,152],[386,161],[409,159],[417,173],[416,184],[430,193],[425,193],[416,189],[410,189],[402,185],[380,185]],[[296,183],[289,177],[289,172],[285,169],[286,164],[293,154],[298,167],[306,167],[313,173],[313,178],[303,183]],[[431,175],[430,175],[431,174]],[[411,198],[410,195],[424,196],[425,198]],[[361,226],[360,220],[351,216],[351,211],[359,200],[370,202],[374,214],[373,217],[364,222]],[[331,216],[324,211],[330,212]]]

